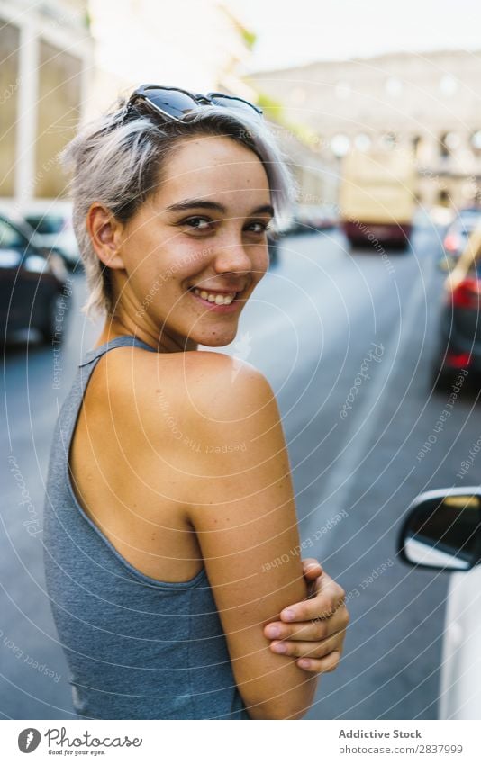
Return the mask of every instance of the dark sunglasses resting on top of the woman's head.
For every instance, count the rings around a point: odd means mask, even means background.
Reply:
[[[163,85],[141,85],[132,93],[127,102],[127,112],[136,103],[147,103],[154,112],[160,116],[175,122],[184,121],[184,117],[192,112],[196,106],[227,106],[230,109],[240,109],[243,112],[255,112],[259,118],[262,118],[262,109],[255,106],[254,103],[244,101],[236,95],[226,95],[224,93],[189,93],[188,90],[182,90],[179,87],[167,87]]]

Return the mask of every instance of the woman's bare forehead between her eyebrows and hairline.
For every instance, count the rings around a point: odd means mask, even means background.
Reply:
[[[164,165],[159,200],[168,204],[208,196],[228,204],[248,194],[248,203],[268,203],[268,175],[259,157],[247,146],[222,136],[182,140]]]

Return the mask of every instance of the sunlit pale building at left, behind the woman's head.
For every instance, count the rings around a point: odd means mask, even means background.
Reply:
[[[188,18],[188,24],[186,24]],[[141,82],[237,94],[258,103],[246,76],[255,34],[218,0],[0,0],[0,203],[67,195],[59,152],[82,121]],[[264,103],[262,103],[264,106]],[[304,202],[333,201],[336,163],[303,131],[264,109]],[[295,127],[295,126],[294,126]]]

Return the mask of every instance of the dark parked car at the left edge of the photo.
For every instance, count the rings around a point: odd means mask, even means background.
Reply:
[[[36,328],[46,342],[61,342],[68,304],[68,273],[62,258],[38,247],[0,216],[2,337],[16,329]]]

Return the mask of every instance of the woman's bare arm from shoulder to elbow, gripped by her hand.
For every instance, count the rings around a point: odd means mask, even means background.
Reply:
[[[299,535],[277,403],[250,364],[234,375],[238,362],[229,356],[196,355],[186,373],[187,416],[202,448],[189,454],[187,515],[251,718],[301,718],[317,677],[273,653],[263,633],[283,608],[307,596],[292,552]]]

